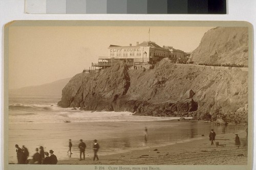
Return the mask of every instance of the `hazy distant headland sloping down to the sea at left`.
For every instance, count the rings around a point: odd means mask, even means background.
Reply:
[[[42,84],[38,86],[28,86],[17,89],[10,89],[11,95],[61,95],[62,89],[70,81],[71,78],[57,80],[52,83]]]

